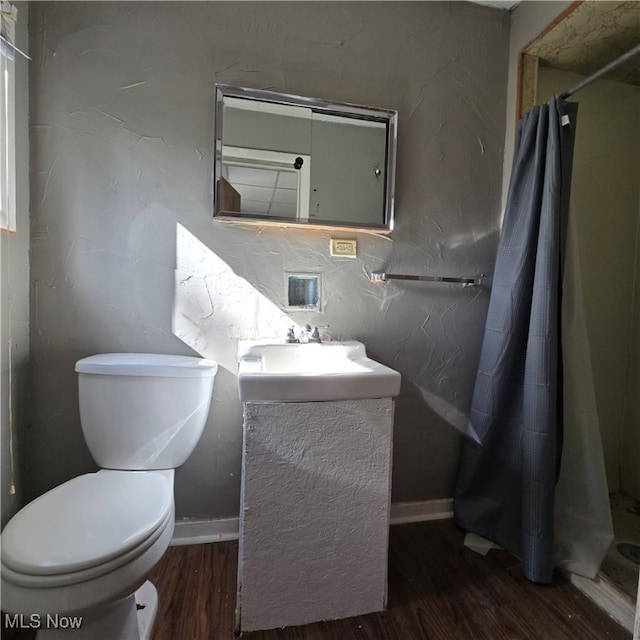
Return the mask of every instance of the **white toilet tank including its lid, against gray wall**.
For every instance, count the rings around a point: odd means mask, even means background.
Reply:
[[[218,365],[191,356],[106,353],[76,363],[80,421],[104,469],[174,469],[207,421]]]

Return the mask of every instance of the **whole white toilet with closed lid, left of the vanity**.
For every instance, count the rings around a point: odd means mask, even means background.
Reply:
[[[174,469],[195,448],[218,365],[110,353],[76,363],[82,431],[100,471],[52,489],[2,532],[2,610],[38,640],[146,640],[146,579],[174,528]]]

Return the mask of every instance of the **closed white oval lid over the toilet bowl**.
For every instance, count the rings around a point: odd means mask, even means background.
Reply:
[[[153,472],[89,473],[19,511],[2,532],[2,562],[33,575],[107,562],[148,538],[166,519],[173,491]]]

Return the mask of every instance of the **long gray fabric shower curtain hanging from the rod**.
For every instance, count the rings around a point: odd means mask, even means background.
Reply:
[[[560,295],[577,105],[519,123],[480,363],[454,500],[456,523],[551,582],[562,450]]]

